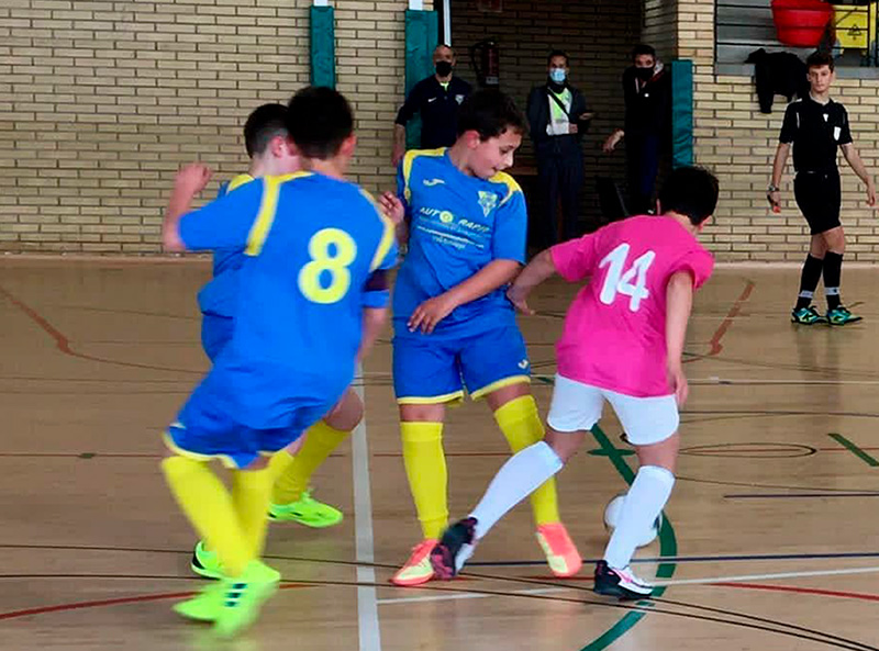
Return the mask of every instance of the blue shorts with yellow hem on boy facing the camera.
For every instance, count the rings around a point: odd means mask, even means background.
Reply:
[[[393,391],[400,404],[478,400],[531,382],[531,363],[515,325],[466,337],[405,334],[393,338]]]

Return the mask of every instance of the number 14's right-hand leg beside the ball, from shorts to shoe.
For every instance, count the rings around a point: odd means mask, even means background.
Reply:
[[[626,493],[604,558],[596,566],[599,594],[649,596],[653,586],[628,568],[638,540],[663,512],[675,485],[680,417],[675,396],[632,397],[605,392],[638,456],[638,472]]]

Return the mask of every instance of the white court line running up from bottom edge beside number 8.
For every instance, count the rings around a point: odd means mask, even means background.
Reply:
[[[363,370],[357,369],[357,379]],[[363,386],[355,392],[364,400]],[[365,402],[365,401],[364,401]],[[366,444],[366,417],[352,433],[352,464],[354,475],[354,520],[358,563],[375,562],[372,541],[372,497],[369,487],[369,449]],[[357,566],[357,583],[375,583],[374,568]],[[381,630],[378,622],[378,598],[372,585],[357,587],[357,618],[360,651],[381,651]]]

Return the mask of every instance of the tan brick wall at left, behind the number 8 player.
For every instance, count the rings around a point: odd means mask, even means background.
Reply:
[[[249,110],[308,83],[310,4],[3,0],[0,248],[158,251],[176,168],[245,169]],[[360,135],[352,172],[371,190],[393,180],[407,4],[334,2],[338,88]]]

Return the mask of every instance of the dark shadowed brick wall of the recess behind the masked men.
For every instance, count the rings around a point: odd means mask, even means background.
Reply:
[[[620,77],[630,64],[630,52],[641,34],[639,0],[594,0],[592,2],[538,2],[504,0],[501,13],[486,13],[474,0],[452,1],[452,43],[458,50],[460,75],[475,83],[468,47],[492,37],[500,44],[501,89],[511,93],[524,110],[532,87],[546,80],[546,55],[564,49],[570,55],[570,82],[587,97],[598,116],[583,138],[586,187],[583,212],[594,223],[598,203],[596,175],[625,179],[623,148],[607,156],[601,143],[614,127],[622,126],[623,97]],[[531,143],[524,143],[520,158],[531,161]]]

